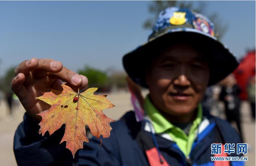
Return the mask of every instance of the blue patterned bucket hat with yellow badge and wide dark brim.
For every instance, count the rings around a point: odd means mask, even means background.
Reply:
[[[123,56],[123,66],[129,77],[148,88],[145,75],[150,60],[164,45],[177,41],[190,42],[204,50],[209,59],[208,86],[218,83],[238,66],[234,54],[214,37],[214,24],[204,15],[187,8],[169,7],[160,12],[148,42]]]

